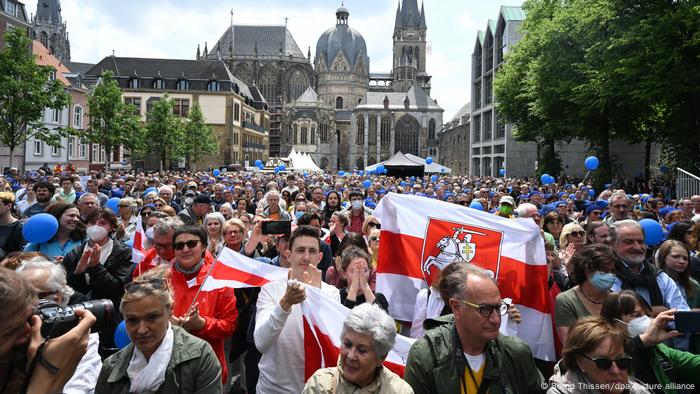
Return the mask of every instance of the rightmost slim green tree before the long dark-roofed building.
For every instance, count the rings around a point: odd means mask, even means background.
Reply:
[[[190,108],[184,126],[183,143],[187,167],[191,168],[194,163],[195,171],[197,170],[197,162],[203,155],[216,153],[219,150],[213,129],[206,123],[202,108],[198,103]]]

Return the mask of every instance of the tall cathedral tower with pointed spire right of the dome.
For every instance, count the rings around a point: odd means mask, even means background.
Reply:
[[[430,94],[430,75],[425,72],[427,30],[423,5],[419,11],[418,0],[401,0],[394,22],[394,91],[407,92],[416,84]]]

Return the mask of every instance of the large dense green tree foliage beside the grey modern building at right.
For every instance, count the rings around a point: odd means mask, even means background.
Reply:
[[[612,139],[685,141],[677,157],[700,160],[700,7],[691,3],[528,0],[523,38],[494,81],[516,139],[583,140],[601,180],[611,179]]]

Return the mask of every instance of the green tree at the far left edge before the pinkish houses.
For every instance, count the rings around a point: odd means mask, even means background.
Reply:
[[[0,141],[10,148],[10,166],[15,149],[34,137],[60,147],[61,137],[70,129],[49,130],[42,121],[47,108],[60,110],[70,104],[63,84],[49,81],[53,67],[40,66],[31,55],[31,40],[22,29],[5,34],[5,50],[0,51]]]

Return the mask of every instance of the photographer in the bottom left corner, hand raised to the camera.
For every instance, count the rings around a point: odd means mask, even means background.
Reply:
[[[61,392],[87,350],[92,313],[76,310],[76,327],[44,341],[41,319],[32,316],[34,299],[26,280],[0,268],[0,392]]]

